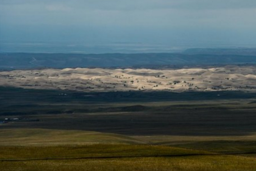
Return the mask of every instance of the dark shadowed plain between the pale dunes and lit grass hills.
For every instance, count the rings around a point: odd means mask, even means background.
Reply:
[[[256,132],[255,99],[255,93],[246,92],[77,93],[0,88],[0,120],[19,118],[0,124],[0,130],[86,130],[129,136],[251,135]]]

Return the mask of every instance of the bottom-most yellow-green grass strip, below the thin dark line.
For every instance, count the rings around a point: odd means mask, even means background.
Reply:
[[[254,171],[255,161],[241,156],[136,157],[1,162],[2,171]],[[2,167],[3,168],[3,167]]]

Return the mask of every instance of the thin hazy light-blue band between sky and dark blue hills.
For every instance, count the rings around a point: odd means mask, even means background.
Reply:
[[[86,43],[74,41],[0,41],[0,53],[181,53],[190,48],[252,48],[254,46],[150,44],[136,42]],[[256,46],[255,46],[256,47]]]

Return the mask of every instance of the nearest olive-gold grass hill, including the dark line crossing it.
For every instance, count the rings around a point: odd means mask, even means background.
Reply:
[[[252,157],[152,145],[5,146],[1,171],[254,171]]]

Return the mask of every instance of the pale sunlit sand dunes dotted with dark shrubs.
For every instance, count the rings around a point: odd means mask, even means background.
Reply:
[[[0,72],[0,86],[77,91],[256,91],[256,68],[177,70],[65,68]]]

